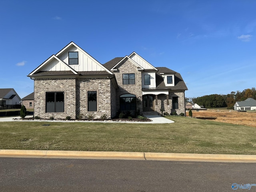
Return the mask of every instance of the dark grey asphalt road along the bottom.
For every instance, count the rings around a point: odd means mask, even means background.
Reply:
[[[255,163],[0,158],[0,191],[228,192],[256,184]],[[241,186],[240,186],[241,187]],[[248,191],[240,189],[236,191]],[[250,191],[256,191],[251,186]]]

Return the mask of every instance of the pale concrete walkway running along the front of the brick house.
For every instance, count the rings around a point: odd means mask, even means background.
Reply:
[[[33,116],[26,116],[26,117],[33,117]],[[100,121],[102,123],[146,123],[146,124],[154,124],[154,123],[174,123],[174,121],[164,118],[162,116],[158,115],[148,115],[146,116],[152,121],[149,122],[131,122],[131,121]],[[8,122],[8,121],[19,121],[19,120],[13,120],[13,119],[21,119],[20,116],[16,117],[2,117],[0,118],[0,122]],[[22,121],[31,121],[31,120],[22,120]],[[34,121],[46,121],[46,122],[60,122],[59,120],[34,120]],[[61,121],[61,122],[99,122],[99,121]]]

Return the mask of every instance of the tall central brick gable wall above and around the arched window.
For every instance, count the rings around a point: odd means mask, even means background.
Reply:
[[[122,74],[135,74],[135,84],[123,84]],[[116,90],[116,109],[119,108],[119,97],[123,94],[134,94],[138,99],[142,101],[142,82],[141,72],[138,71],[137,66],[130,62],[128,59],[124,60],[122,64],[118,66],[118,71],[114,72],[118,83],[118,89]],[[142,102],[141,102],[142,103]],[[142,113],[142,104],[137,106],[136,110],[140,110]],[[132,111],[131,111],[132,112]],[[134,113],[134,112],[133,112]]]

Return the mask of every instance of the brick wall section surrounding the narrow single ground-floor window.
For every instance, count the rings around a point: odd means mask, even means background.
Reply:
[[[76,115],[94,118],[111,117],[111,83],[108,78],[78,78],[76,80]],[[88,91],[97,92],[97,111],[88,111]]]

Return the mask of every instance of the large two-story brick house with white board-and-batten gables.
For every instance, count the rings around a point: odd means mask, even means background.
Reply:
[[[181,75],[135,52],[102,65],[70,42],[28,77],[34,80],[34,116],[41,118],[185,113],[188,88]]]

